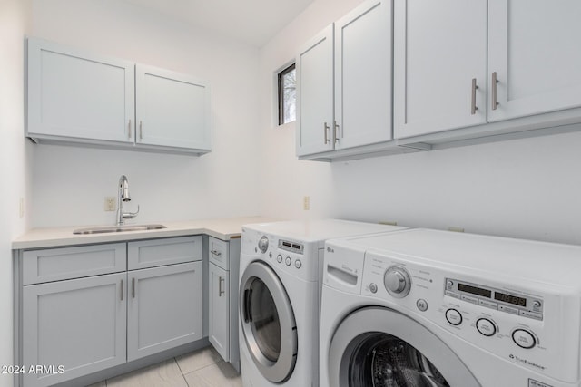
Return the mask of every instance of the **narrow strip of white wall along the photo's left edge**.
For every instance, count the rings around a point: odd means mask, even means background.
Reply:
[[[0,1],[0,365],[14,364],[11,244],[26,227],[26,218],[20,218],[19,201],[28,197],[23,37],[30,13],[30,1]],[[12,383],[12,375],[0,374],[0,387]]]

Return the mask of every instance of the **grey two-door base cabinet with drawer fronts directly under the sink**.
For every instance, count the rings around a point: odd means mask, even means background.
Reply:
[[[202,339],[201,236],[26,250],[16,258],[15,278],[23,280],[15,292],[15,363],[25,387]]]

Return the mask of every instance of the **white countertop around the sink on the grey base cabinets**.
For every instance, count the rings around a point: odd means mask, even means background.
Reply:
[[[20,250],[25,248],[74,246],[155,237],[182,237],[196,234],[206,234],[222,240],[230,240],[231,238],[241,237],[242,225],[276,220],[273,218],[244,217],[159,222],[167,228],[81,235],[75,235],[73,231],[77,228],[86,228],[86,226],[33,228],[24,235],[17,237],[12,242],[12,248]]]

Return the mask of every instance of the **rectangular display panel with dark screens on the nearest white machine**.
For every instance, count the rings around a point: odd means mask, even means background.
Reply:
[[[543,321],[543,300],[517,292],[446,278],[444,294],[470,304]]]

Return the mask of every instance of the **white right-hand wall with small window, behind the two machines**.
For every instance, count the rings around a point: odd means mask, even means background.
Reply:
[[[332,164],[296,159],[294,123],[272,124],[271,74],[359,3],[317,0],[261,50],[262,215],[581,243],[581,132]],[[303,195],[309,212],[300,209]]]

